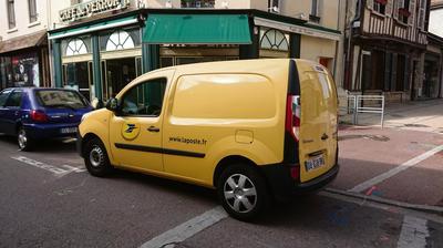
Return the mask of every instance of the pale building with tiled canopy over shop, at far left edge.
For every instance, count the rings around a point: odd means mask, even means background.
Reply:
[[[45,0],[0,2],[0,89],[50,86]]]

